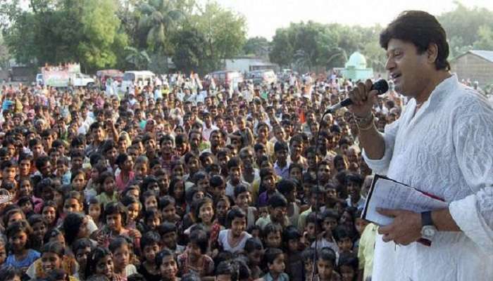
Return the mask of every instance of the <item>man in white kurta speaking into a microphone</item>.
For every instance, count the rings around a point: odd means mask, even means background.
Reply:
[[[380,34],[380,45],[395,89],[411,100],[379,133],[371,81],[349,93],[363,157],[376,174],[449,207],[380,210],[394,222],[378,231],[372,280],[493,280],[492,106],[450,73],[446,34],[434,16],[401,13]],[[431,246],[416,242],[421,237]]]

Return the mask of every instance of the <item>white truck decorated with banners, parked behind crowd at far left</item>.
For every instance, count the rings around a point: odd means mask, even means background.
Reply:
[[[80,72],[80,65],[78,63],[67,63],[58,66],[46,65],[42,67],[41,74],[42,77],[40,78],[45,86],[61,88],[68,86],[83,86],[92,88],[95,85],[95,81],[92,77]]]

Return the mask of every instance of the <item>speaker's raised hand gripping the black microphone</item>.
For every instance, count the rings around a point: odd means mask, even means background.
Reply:
[[[353,104],[349,106],[349,111],[356,117],[367,117],[370,115],[373,105],[375,105],[375,96],[378,91],[372,90],[373,83],[370,79],[366,82],[358,82],[358,84],[349,91],[349,98],[353,101]]]

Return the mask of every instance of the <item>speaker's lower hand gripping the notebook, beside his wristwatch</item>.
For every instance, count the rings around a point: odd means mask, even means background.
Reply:
[[[378,228],[384,242],[394,241],[396,244],[408,245],[421,238],[421,214],[392,209],[377,211],[383,216],[394,218],[393,223]]]

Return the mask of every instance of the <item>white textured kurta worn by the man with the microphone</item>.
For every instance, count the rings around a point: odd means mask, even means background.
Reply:
[[[444,198],[463,232],[439,232],[431,247],[375,242],[374,281],[493,280],[493,109],[456,75],[416,112],[385,127],[385,155],[366,162],[377,174]]]

